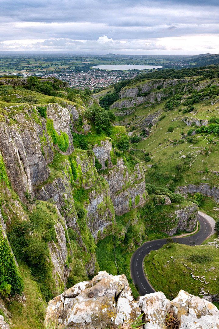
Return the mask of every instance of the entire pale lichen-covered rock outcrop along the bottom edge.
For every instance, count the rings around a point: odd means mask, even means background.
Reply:
[[[49,301],[45,326],[102,329],[132,325],[142,315],[144,329],[168,328],[172,316],[180,329],[219,329],[219,311],[209,301],[181,290],[172,301],[162,292],[135,301],[125,275],[99,272]]]

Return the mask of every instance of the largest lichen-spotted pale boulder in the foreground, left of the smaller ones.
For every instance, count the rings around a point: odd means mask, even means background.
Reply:
[[[125,275],[99,272],[49,301],[45,324],[58,328],[105,328],[132,324],[140,316]]]

